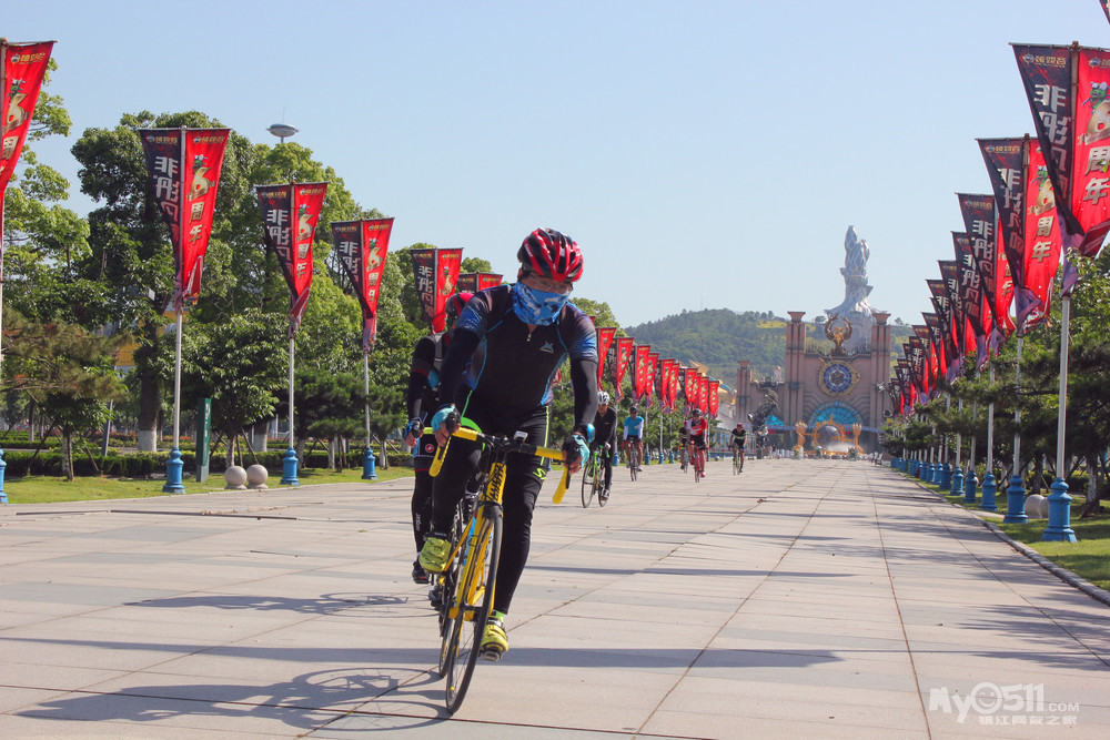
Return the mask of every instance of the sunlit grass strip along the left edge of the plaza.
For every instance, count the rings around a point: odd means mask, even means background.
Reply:
[[[377,479],[393,480],[412,477],[412,468],[392,467],[376,470]],[[306,469],[297,472],[302,486],[321,483],[356,483],[362,480],[362,468],[335,473],[334,470]],[[279,487],[281,475],[270,475],[269,486]],[[10,504],[54,504],[58,501],[107,500],[112,498],[148,498],[152,496],[169,496],[162,493],[164,480],[144,480],[140,478],[54,478],[48,476],[27,476],[4,481],[4,493]],[[373,481],[366,481],[373,485]],[[218,473],[204,483],[195,483],[191,478],[184,480],[186,494],[202,494],[223,490],[223,474]]]

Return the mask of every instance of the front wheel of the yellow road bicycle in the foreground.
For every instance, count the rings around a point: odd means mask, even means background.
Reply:
[[[501,556],[501,508],[490,507],[486,516],[480,517],[476,523],[474,540],[460,564],[452,624],[448,638],[445,638],[448,640],[447,711],[452,714],[466,698],[482,647],[482,633],[493,608],[494,580]]]

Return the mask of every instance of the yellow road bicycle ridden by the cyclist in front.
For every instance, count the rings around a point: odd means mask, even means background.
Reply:
[[[515,438],[508,439],[458,427],[452,436],[485,446],[481,466],[485,472],[485,486],[474,501],[468,521],[455,528],[447,567],[437,577],[442,589],[440,607],[442,642],[436,672],[441,678],[447,679],[447,711],[453,714],[466,697],[466,689],[470,687],[482,647],[482,633],[493,609],[497,564],[501,559],[502,495],[505,493],[508,456],[522,454],[562,460],[563,450],[528,444],[519,432]],[[428,472],[432,476],[438,475],[446,449],[445,445],[436,450]],[[569,479],[571,470],[565,467],[563,478],[552,499],[555,504],[563,500]]]

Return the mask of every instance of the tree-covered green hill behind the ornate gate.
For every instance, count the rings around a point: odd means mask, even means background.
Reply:
[[[674,357],[686,365],[703,363],[710,375],[731,385],[738,359],[751,363],[751,376],[757,379],[769,377],[776,366],[786,364],[788,322],[769,311],[738,314],[728,308],[705,308],[626,326],[625,332],[635,337],[636,344],[652,345],[660,357]],[[813,322],[806,323],[806,331],[808,341],[826,342],[816,335]],[[891,325],[891,344],[898,355],[910,333],[908,325]]]

